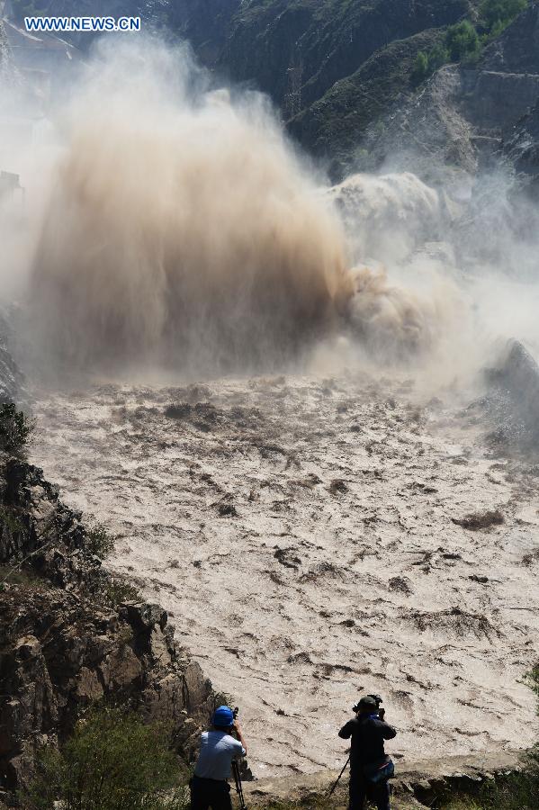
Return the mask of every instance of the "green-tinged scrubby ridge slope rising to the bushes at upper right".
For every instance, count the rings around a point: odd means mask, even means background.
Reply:
[[[318,157],[328,160],[330,175],[341,179],[357,166],[366,139],[383,131],[384,121],[407,102],[413,103],[418,85],[445,64],[481,69],[483,50],[498,41],[527,0],[485,0],[470,3],[462,14],[444,23],[433,16],[432,26],[416,34],[388,41],[362,61],[354,73],[338,79],[318,100],[303,105],[288,121],[289,130]],[[436,26],[436,27],[435,27]],[[485,51],[486,52],[486,51]],[[291,72],[291,82],[297,72]],[[296,87],[296,99],[301,88]],[[285,117],[290,117],[284,109]],[[376,168],[375,159],[369,167]]]

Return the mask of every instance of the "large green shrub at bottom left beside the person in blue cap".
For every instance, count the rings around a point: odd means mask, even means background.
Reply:
[[[187,772],[161,725],[119,708],[94,708],[59,751],[40,752],[28,810],[180,810]]]

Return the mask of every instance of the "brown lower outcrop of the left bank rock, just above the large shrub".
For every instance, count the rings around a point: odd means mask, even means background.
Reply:
[[[211,685],[148,608],[134,603],[100,609],[75,594],[41,587],[10,588],[0,597],[0,779],[7,788],[31,777],[35,750],[61,742],[81,708],[105,698],[148,720],[175,725],[180,749],[193,752],[210,711]],[[164,615],[163,615],[164,614]],[[156,644],[166,660],[155,656]],[[195,722],[189,723],[187,713]]]

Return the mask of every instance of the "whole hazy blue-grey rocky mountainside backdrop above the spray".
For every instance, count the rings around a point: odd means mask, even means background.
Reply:
[[[24,6],[12,5],[13,14]],[[293,137],[336,178],[382,164],[395,144],[406,160],[423,155],[476,171],[511,142],[506,157],[535,173],[534,121],[516,128],[539,92],[536,2],[477,64],[445,67],[419,89],[418,51],[432,49],[448,25],[477,20],[476,0],[44,0],[40,9],[139,14],[147,29],[189,40],[220,76],[269,94]],[[80,47],[91,41],[73,36]]]

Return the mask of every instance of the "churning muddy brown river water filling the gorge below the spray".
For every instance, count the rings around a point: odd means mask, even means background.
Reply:
[[[532,743],[539,473],[477,409],[366,374],[36,396],[36,463],[241,707],[256,776],[344,761],[364,690],[398,758]]]

